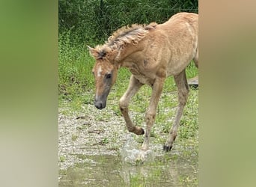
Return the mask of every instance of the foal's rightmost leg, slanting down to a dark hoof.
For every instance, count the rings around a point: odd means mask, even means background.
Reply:
[[[169,132],[168,139],[163,147],[164,150],[169,151],[171,150],[171,147],[174,143],[174,140],[177,136],[177,131],[179,129],[180,125],[180,118],[183,114],[183,108],[186,105],[186,100],[189,95],[189,85],[186,82],[186,73],[185,70],[183,70],[179,75],[174,76],[174,81],[177,85],[178,89],[178,99],[179,99],[179,105],[177,108],[177,113],[174,119],[174,124],[171,127],[171,131]]]

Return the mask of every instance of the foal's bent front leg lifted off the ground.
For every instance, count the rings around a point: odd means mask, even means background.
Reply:
[[[129,86],[127,88],[127,91],[124,93],[119,101],[120,110],[124,116],[125,122],[127,123],[127,129],[129,130],[129,132],[133,132],[136,135],[143,135],[144,130],[139,126],[134,126],[132,124],[132,120],[129,118],[128,114],[128,105],[129,100],[132,98],[132,96],[135,95],[135,93],[138,92],[139,88],[141,88],[142,85],[143,84],[138,82],[138,80],[135,79],[134,76],[131,76],[131,78],[129,79]]]

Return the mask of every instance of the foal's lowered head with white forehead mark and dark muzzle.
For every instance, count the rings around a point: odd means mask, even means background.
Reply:
[[[109,91],[114,85],[118,67],[115,65],[114,60],[109,55],[109,52],[93,49],[88,47],[91,55],[94,56],[96,63],[92,70],[95,79],[95,97],[94,105],[98,109],[106,107],[106,99],[109,95]]]

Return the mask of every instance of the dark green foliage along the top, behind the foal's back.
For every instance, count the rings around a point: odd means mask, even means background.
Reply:
[[[59,0],[59,34],[79,43],[103,42],[132,23],[162,23],[178,12],[198,13],[198,0]]]

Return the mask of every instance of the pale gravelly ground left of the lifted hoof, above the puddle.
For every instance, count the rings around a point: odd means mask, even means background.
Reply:
[[[107,121],[101,116],[111,116]],[[58,111],[58,158],[61,170],[84,162],[82,155],[117,155],[127,137],[124,119],[105,108],[86,105],[82,111]],[[80,155],[80,156],[79,156]]]

